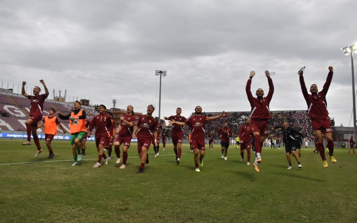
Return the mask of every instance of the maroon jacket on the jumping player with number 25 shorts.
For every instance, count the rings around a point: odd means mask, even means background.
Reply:
[[[328,111],[327,111],[327,102],[326,102],[326,94],[328,88],[330,87],[332,81],[333,72],[329,72],[327,75],[327,79],[325,84],[323,85],[322,91],[318,92],[317,94],[309,94],[307,93],[306,85],[304,82],[304,77],[300,76],[300,85],[302,94],[306,100],[308,112],[310,115],[310,119],[320,119],[320,118],[327,118]]]

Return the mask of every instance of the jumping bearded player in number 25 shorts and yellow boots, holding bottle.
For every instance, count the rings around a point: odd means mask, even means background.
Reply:
[[[333,67],[328,67],[328,74],[326,82],[323,85],[322,91],[318,92],[317,85],[312,84],[310,87],[311,94],[308,94],[303,71],[299,70],[300,85],[302,90],[302,95],[304,96],[308,108],[308,113],[312,122],[312,129],[314,130],[315,137],[317,139],[316,148],[320,152],[320,156],[323,162],[323,167],[327,168],[327,160],[325,157],[325,147],[323,146],[322,133],[325,134],[327,139],[327,148],[329,150],[330,160],[332,163],[337,162],[335,157],[333,157],[333,138],[332,138],[332,128],[330,123],[330,117],[328,116],[327,111],[327,102],[326,94],[328,88],[330,87],[332,76],[333,76]]]

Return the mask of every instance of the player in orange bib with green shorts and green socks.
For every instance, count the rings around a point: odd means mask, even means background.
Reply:
[[[68,115],[62,115],[60,111],[57,111],[57,115],[62,120],[70,120],[69,123],[69,133],[71,134],[71,145],[74,163],[72,166],[78,165],[78,161],[82,159],[81,152],[81,141],[86,134],[86,123],[85,119],[87,117],[86,111],[82,110],[82,104],[79,101],[75,101],[73,104],[74,111]]]

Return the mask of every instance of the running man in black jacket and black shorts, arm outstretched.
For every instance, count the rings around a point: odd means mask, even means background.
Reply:
[[[283,131],[283,143],[285,143],[285,151],[286,151],[286,159],[289,163],[288,170],[292,168],[291,166],[291,160],[290,160],[290,154],[292,152],[293,156],[295,157],[298,167],[302,168],[300,164],[300,160],[298,155],[296,154],[296,149],[298,148],[298,144],[300,142],[298,141],[298,138],[296,137],[296,134],[304,137],[300,132],[296,131],[295,129],[291,128],[289,126],[289,123],[284,122],[283,126],[275,126],[272,128],[273,129],[281,129]]]

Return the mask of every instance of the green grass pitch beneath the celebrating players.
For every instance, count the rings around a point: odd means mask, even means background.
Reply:
[[[246,165],[246,153],[241,163],[230,146],[225,161],[214,145],[195,172],[188,145],[177,165],[172,144],[165,151],[160,144],[160,155],[151,146],[149,165],[136,174],[134,143],[124,170],[115,159],[93,168],[94,142],[87,142],[79,166],[71,166],[68,141],[52,142],[53,159],[41,145],[35,158],[34,145],[0,141],[0,222],[357,222],[357,155],[347,149],[335,149],[337,163],[328,160],[326,169],[313,149],[302,149],[303,168],[291,156],[291,170],[283,148],[263,149],[257,173]],[[23,162],[35,163],[12,164]]]

